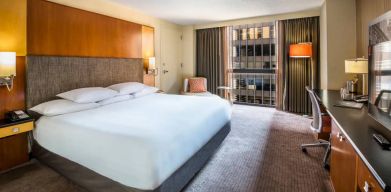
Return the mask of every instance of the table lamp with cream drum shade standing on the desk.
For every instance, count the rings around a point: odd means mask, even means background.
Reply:
[[[353,83],[358,82],[358,74],[362,74],[362,94],[367,95],[367,88],[365,84],[365,74],[368,74],[368,59],[357,58],[345,60],[345,73],[355,74]]]

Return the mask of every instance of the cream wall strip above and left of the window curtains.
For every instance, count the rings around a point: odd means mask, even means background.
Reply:
[[[313,17],[319,16],[320,9],[313,9],[308,11],[302,11],[297,13],[288,13],[280,15],[270,15],[263,17],[252,17],[246,19],[237,19],[216,23],[208,23],[202,25],[190,25],[183,27],[183,76],[194,76],[195,75],[195,66],[196,66],[196,54],[195,54],[195,30],[212,28],[212,27],[222,27],[222,26],[232,26],[232,25],[243,25],[243,24],[255,24],[263,22],[273,22],[277,20],[292,19],[292,18],[302,18],[302,17]]]

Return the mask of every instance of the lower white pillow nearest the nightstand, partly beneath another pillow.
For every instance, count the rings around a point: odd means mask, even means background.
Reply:
[[[35,111],[41,115],[55,116],[66,113],[72,113],[77,111],[83,111],[87,109],[93,109],[99,107],[97,103],[75,103],[66,99],[57,99],[41,103],[31,108],[31,111]]]

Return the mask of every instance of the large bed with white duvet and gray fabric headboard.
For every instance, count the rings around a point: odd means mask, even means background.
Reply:
[[[64,60],[69,65],[91,64],[85,62],[90,59],[30,56],[27,106],[51,100],[54,93],[85,86],[62,83],[64,78],[74,78],[68,74],[50,77],[57,85],[55,90],[45,90],[40,87],[47,87],[42,84],[50,81],[32,79],[37,77],[37,69],[53,72],[64,69]],[[75,65],[65,69],[69,67]],[[98,84],[129,80],[134,79],[126,76]],[[179,191],[229,133],[230,114],[230,104],[219,97],[153,93],[94,109],[41,116],[33,132],[33,155],[90,191]]]

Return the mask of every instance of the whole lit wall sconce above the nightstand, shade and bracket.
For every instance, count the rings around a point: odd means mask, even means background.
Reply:
[[[0,52],[0,86],[12,90],[13,80],[16,76],[16,53]]]

